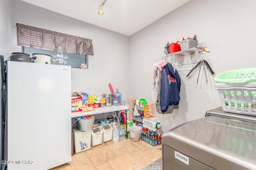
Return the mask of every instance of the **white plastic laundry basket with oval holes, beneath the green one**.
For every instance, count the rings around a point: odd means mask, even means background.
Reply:
[[[256,83],[215,84],[223,111],[256,116]]]

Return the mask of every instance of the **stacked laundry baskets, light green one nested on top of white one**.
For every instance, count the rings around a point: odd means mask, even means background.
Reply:
[[[256,116],[256,68],[223,72],[214,80],[224,111]]]

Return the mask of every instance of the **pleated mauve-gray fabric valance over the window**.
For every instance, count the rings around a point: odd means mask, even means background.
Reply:
[[[21,23],[16,23],[16,26],[17,44],[19,46],[52,51],[57,45],[62,45],[68,53],[93,55],[91,39],[32,27]]]

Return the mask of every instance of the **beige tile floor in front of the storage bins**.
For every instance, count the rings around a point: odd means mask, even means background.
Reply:
[[[162,156],[161,145],[152,147],[130,139],[108,141],[72,156],[70,164],[51,170],[140,170]]]

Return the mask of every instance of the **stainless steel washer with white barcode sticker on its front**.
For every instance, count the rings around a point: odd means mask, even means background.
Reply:
[[[163,170],[256,170],[256,117],[221,107],[162,136]]]

